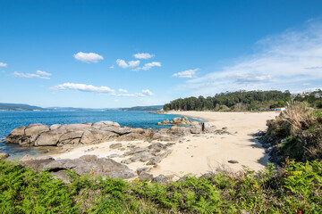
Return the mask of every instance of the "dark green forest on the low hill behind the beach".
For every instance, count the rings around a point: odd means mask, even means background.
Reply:
[[[164,105],[164,110],[180,111],[254,111],[284,107],[291,100],[289,91],[237,91],[214,96],[176,99]]]

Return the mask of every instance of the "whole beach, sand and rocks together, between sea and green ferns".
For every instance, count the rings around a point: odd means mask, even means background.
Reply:
[[[47,145],[57,150],[47,155],[25,156],[20,164],[49,170],[63,179],[67,177],[66,169],[74,170],[79,176],[162,181],[189,173],[204,175],[216,169],[236,171],[247,166],[261,170],[267,166],[269,156],[254,134],[265,130],[267,119],[274,119],[276,112],[174,114],[184,117],[174,119],[178,122],[175,124],[169,121],[171,128],[128,128],[112,121],[51,127],[31,124],[14,129],[6,141],[39,149]],[[191,122],[185,117],[209,122],[188,124]]]

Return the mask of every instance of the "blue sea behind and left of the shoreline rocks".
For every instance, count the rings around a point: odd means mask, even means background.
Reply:
[[[10,159],[42,153],[43,148],[21,147],[17,144],[5,144],[4,138],[14,128],[32,123],[53,124],[95,123],[102,120],[118,122],[122,127],[131,128],[170,128],[171,125],[157,125],[165,119],[180,117],[173,114],[155,114],[147,111],[0,111],[0,152],[9,153]],[[191,119],[191,118],[190,118]],[[193,119],[198,120],[198,119]]]

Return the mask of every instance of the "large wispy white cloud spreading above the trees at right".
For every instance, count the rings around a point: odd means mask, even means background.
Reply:
[[[181,89],[193,89],[193,95],[214,95],[242,88],[301,91],[305,89],[303,84],[317,86],[322,81],[321,22],[309,22],[306,29],[289,29],[266,37],[256,45],[258,52],[188,80]]]

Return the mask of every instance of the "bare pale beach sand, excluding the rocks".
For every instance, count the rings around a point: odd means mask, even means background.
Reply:
[[[268,112],[212,112],[212,111],[172,111],[173,114],[184,115],[192,118],[206,119],[217,129],[227,128],[233,135],[201,134],[184,136],[181,142],[174,144],[173,152],[157,164],[157,168],[150,171],[153,176],[175,175],[181,177],[186,174],[202,175],[216,169],[241,170],[242,166],[249,169],[265,169],[268,156],[262,146],[251,136],[258,131],[266,130],[267,119],[275,119],[276,111]],[[52,155],[55,159],[75,159],[85,154],[95,154],[106,157],[113,153],[122,154],[126,151],[112,150],[110,144],[94,144],[72,149],[70,152]],[[147,147],[148,142],[117,142],[123,147],[134,144]],[[124,159],[124,158],[123,158]],[[122,158],[113,158],[122,161]],[[125,158],[126,159],[126,158]],[[234,160],[239,163],[228,163]],[[128,165],[130,169],[147,167],[142,162]]]

